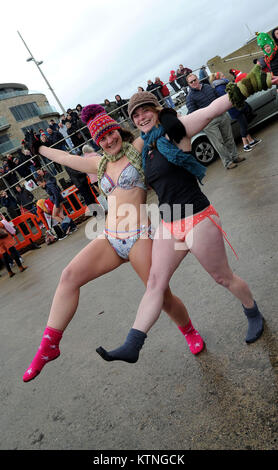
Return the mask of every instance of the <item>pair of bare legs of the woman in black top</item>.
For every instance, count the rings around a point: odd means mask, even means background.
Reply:
[[[215,217],[218,225],[220,220]],[[176,240],[163,239],[163,227],[159,227],[158,237],[154,240],[152,267],[147,290],[142,298],[133,328],[147,332],[157,321],[163,296],[169,281],[188,250],[175,250]],[[221,231],[208,218],[193,229],[193,244],[190,251],[201,265],[214,278],[237,297],[246,309],[254,308],[252,293],[245,281],[236,276],[229,267]],[[186,246],[186,245],[185,245]]]

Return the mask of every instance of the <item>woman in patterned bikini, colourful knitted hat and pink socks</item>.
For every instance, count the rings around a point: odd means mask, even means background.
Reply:
[[[151,94],[150,102],[153,99],[154,95]],[[91,241],[62,272],[47,327],[37,353],[23,375],[24,382],[34,379],[46,363],[59,357],[59,343],[77,310],[83,285],[127,261],[130,261],[145,285],[149,276],[152,230],[147,213],[142,213],[142,205],[146,203],[146,185],[138,141],[131,143],[132,134],[123,130],[102,106],[86,106],[82,109],[81,118],[87,124],[95,143],[102,148],[102,156],[97,153],[88,157],[72,156],[41,145],[32,132],[25,136],[33,154],[40,153],[54,162],[84,173],[97,173],[99,188],[107,197],[109,209],[104,234]],[[128,223],[126,214],[120,214],[123,208],[132,209]],[[198,354],[203,349],[203,340],[192,326],[186,307],[172,295],[169,288],[164,296],[163,309],[183,329],[191,352]],[[129,339],[135,350],[141,349],[145,338],[145,333],[131,330]],[[128,362],[136,360],[136,355],[128,358]]]

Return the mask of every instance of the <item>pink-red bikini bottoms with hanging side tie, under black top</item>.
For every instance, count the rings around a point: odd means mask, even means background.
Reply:
[[[215,220],[211,217],[212,215],[216,215],[219,217],[217,210],[210,204],[210,206],[206,207],[203,211],[198,212],[197,214],[193,215],[193,217],[186,217],[185,219],[181,220],[174,220],[173,222],[164,222],[162,220],[163,225],[171,232],[171,234],[179,241],[184,242],[189,232],[197,225],[199,222],[204,220],[208,217],[214,225],[222,232],[224,239],[233,250],[236,258],[238,255],[236,254],[235,250],[233,249],[232,245],[230,244],[227,234],[224,232],[222,227],[218,225]]]

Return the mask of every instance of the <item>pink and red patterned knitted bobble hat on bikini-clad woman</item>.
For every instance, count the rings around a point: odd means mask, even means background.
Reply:
[[[91,136],[97,145],[99,145],[99,141],[105,134],[121,128],[99,104],[89,104],[85,106],[81,112],[81,119],[87,124]]]

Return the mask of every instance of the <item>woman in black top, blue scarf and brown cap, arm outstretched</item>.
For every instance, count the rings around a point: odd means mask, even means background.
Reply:
[[[248,321],[246,342],[256,341],[263,333],[264,319],[247,283],[229,266],[223,239],[228,240],[219,214],[199,187],[205,168],[191,154],[191,137],[214,117],[232,106],[240,108],[250,94],[277,82],[278,77],[271,79],[256,65],[241,82],[227,85],[228,95],[186,116],[162,109],[151,93],[131,97],[129,117],[141,131],[145,178],[158,196],[162,220],[154,237],[150,277],[136,320],[122,346],[112,351],[98,349],[106,361],[131,362],[131,357],[132,362],[138,360],[142,346],[132,341],[132,331],[147,336],[159,318],[165,289],[189,252],[242,303]],[[187,335],[187,331],[181,331]]]

